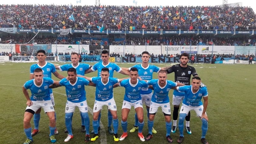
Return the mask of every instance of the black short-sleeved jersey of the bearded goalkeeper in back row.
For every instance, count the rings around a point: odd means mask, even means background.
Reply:
[[[191,75],[197,76],[194,67],[187,66],[183,68],[180,64],[173,65],[170,69],[167,70],[168,74],[174,72],[175,82],[183,83],[185,85],[190,85]],[[175,96],[184,96],[184,92],[179,92],[178,90],[173,91]]]

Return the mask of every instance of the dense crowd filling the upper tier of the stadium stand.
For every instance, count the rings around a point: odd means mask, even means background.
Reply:
[[[251,7],[0,5],[1,27],[97,29],[255,29]],[[74,20],[70,20],[70,16]]]

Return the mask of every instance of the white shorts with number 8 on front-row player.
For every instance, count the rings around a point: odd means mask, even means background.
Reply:
[[[111,98],[107,101],[97,101],[95,100],[94,106],[93,106],[93,112],[99,112],[102,107],[106,105],[108,109],[112,111],[116,111],[116,104],[114,98]]]

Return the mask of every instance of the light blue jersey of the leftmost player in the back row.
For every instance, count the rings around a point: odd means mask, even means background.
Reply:
[[[55,73],[56,71],[56,68],[52,63],[46,62],[45,65],[42,67],[39,66],[39,64],[33,64],[32,66],[30,66],[30,74],[33,75],[34,70],[36,68],[41,68],[43,70],[44,77],[49,77],[49,78],[52,78],[52,73]],[[49,90],[50,90],[50,93],[53,93],[52,89],[49,89]]]

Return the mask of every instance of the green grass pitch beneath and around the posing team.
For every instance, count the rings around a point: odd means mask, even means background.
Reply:
[[[57,62],[54,62],[57,63]],[[0,63],[0,143],[23,143],[26,139],[23,130],[23,115],[26,108],[26,99],[22,93],[22,85],[29,79],[29,68],[32,63],[15,63],[4,62]],[[61,63],[63,64],[63,63]],[[121,67],[130,67],[134,64],[118,64]],[[157,65],[164,67],[166,65]],[[255,65],[242,65],[242,64],[195,64],[194,67],[202,79],[202,82],[207,85],[209,93],[209,104],[207,114],[209,118],[208,133],[206,138],[209,143],[254,143],[256,141],[256,122],[255,122]],[[66,72],[60,72],[66,76]],[[87,76],[96,76],[96,73],[90,73]],[[122,74],[115,73],[115,77],[126,77]],[[157,78],[157,74],[154,74]],[[53,76],[53,79],[57,80]],[[174,74],[168,75],[169,80],[174,80]],[[64,143],[67,134],[64,133],[65,129],[65,88],[59,87],[54,90],[55,96],[55,110],[57,113],[57,128],[59,134],[56,136],[56,143]],[[86,86],[87,103],[90,108],[94,104],[95,88]],[[118,108],[119,129],[118,134],[121,136],[121,105],[123,101],[124,88],[118,87],[114,89],[114,98]],[[172,91],[169,93],[172,99]],[[171,105],[171,110],[173,107]],[[146,110],[144,109],[144,136],[148,133]],[[90,116],[90,125],[92,125],[92,115]],[[113,135],[107,132],[107,110],[103,108],[101,122],[105,128],[106,142],[113,142]],[[40,119],[40,133],[33,137],[36,144],[50,143],[49,137],[49,121],[47,116],[41,112]],[[132,108],[128,116],[128,131],[134,124],[134,109]],[[31,121],[33,127],[33,120]],[[188,135],[184,131],[184,144],[186,143],[201,143],[201,120],[196,117],[194,111],[191,112],[190,127],[192,135]],[[165,120],[161,109],[158,109],[154,120],[154,128],[157,134],[153,138],[144,143],[167,143],[165,139]],[[74,138],[68,143],[84,143],[84,133],[80,132],[81,118],[79,110],[76,109],[73,117],[73,134]],[[90,126],[90,131],[92,126]],[[102,133],[101,133],[102,134]],[[99,135],[100,136],[100,135]],[[100,136],[94,144],[100,143]],[[171,133],[177,143],[179,138],[179,129],[176,133]],[[143,143],[135,133],[128,133],[128,137],[119,143]]]

